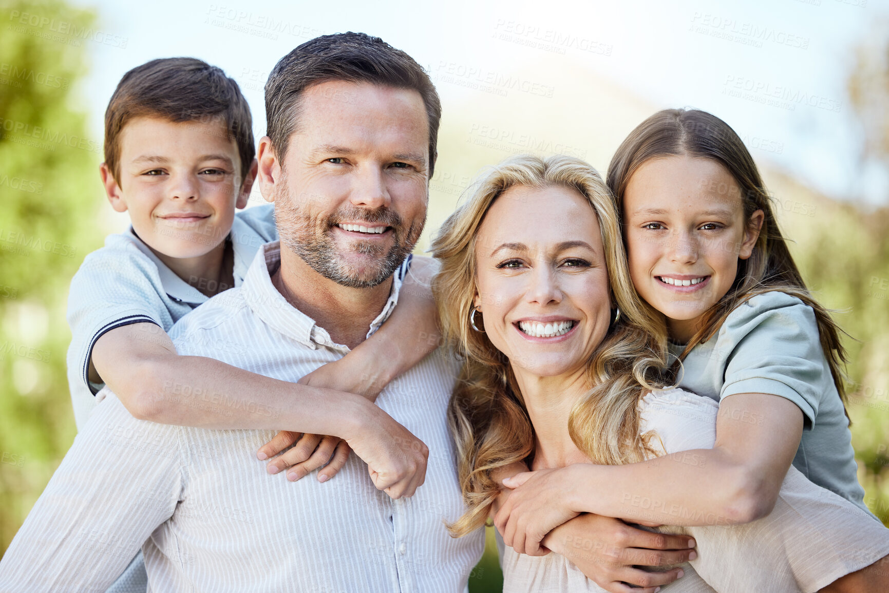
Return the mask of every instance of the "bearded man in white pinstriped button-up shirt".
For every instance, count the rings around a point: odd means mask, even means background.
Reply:
[[[396,307],[440,106],[414,60],[354,33],[300,45],[266,95],[258,179],[281,242],[171,337],[181,355],[296,381]],[[271,432],[137,421],[108,392],[7,550],[0,589],[103,590],[141,546],[153,590],[464,590],[484,538],[445,530],[463,510],[445,421],[455,373],[436,351],[383,389],[379,411],[357,400],[335,416],[307,411],[306,432],[339,437],[388,413],[428,445],[410,498],[380,492],[386,477],[356,455],[327,484],[270,477],[251,453]]]

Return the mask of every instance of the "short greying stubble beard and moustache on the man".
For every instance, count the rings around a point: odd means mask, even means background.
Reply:
[[[293,204],[282,176],[275,187],[275,220],[281,244],[300,256],[300,259],[318,274],[349,288],[372,288],[385,282],[395,273],[420,238],[425,220],[404,228],[404,222],[396,212],[383,206],[376,210],[357,208],[349,204],[328,216],[308,216]],[[374,256],[372,263],[355,269],[340,252],[332,238],[332,228],[337,223],[364,220],[375,225],[391,228],[394,239],[388,252],[374,241],[352,241],[352,252]]]

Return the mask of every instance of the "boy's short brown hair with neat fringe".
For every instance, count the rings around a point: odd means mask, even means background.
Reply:
[[[196,58],[151,60],[124,74],[105,110],[105,162],[120,183],[120,133],[135,117],[174,123],[219,118],[241,157],[241,182],[256,147],[247,100],[220,68]]]

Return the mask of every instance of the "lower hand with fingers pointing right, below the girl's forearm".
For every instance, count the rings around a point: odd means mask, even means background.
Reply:
[[[697,557],[694,540],[687,535],[646,532],[620,519],[592,514],[559,525],[543,539],[543,545],[611,593],[654,593],[676,581],[683,570],[648,573],[637,566],[669,566]]]

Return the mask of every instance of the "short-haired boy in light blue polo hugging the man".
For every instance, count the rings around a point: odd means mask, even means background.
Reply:
[[[413,290],[404,292],[408,296],[396,308],[395,321],[366,346],[304,377],[304,385],[176,354],[166,334],[172,325],[240,284],[260,245],[277,239],[271,204],[235,213],[250,195],[254,154],[250,110],[220,68],[192,58],[152,60],[117,85],[105,116],[100,173],[109,202],[117,212],[129,212],[132,228],[108,236],[71,282],[68,381],[78,429],[107,384],[140,420],[299,431],[302,417],[328,413],[340,398],[358,393],[373,400],[437,345],[436,338],[428,340],[437,335],[435,326],[422,323],[434,302],[422,280],[406,275],[405,262],[398,273]],[[428,274],[426,262],[421,268]],[[396,340],[407,328],[415,343]],[[289,443],[294,435],[278,438]],[[356,435],[383,446],[391,438],[384,429]],[[287,477],[296,480],[326,463],[318,475],[323,482],[342,467],[348,452],[339,439],[304,435],[270,461],[268,471],[293,466]],[[389,461],[397,465],[395,457]],[[138,576],[138,564],[127,574]],[[144,570],[140,576],[144,579]]]

